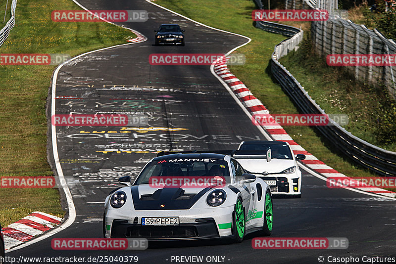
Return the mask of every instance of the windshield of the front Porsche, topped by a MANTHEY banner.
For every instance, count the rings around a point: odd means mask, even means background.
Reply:
[[[148,184],[150,177],[157,176],[221,176],[225,178],[227,183],[231,182],[226,161],[206,158],[183,158],[155,160],[150,162],[139,175],[134,185]]]

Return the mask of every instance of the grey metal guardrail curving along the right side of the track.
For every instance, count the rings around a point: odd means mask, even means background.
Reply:
[[[257,22],[256,27],[267,30],[268,23],[270,22]],[[281,33],[282,28],[287,28],[287,30]],[[273,76],[297,104],[302,113],[325,114],[323,109],[301,87],[296,78],[278,61],[291,50],[296,49],[302,40],[302,30],[282,25],[277,28],[277,31],[283,35],[290,34],[291,31],[296,31],[296,34],[275,46],[271,57],[271,72]],[[396,176],[396,152],[374,146],[352,135],[335,123],[333,126],[317,126],[317,128],[335,147],[345,152],[348,157],[358,164],[382,176]]]

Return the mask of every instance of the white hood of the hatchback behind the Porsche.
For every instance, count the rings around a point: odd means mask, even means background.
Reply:
[[[271,159],[267,162],[263,159],[238,159],[242,167],[254,174],[267,173],[280,173],[285,169],[295,166],[294,160],[278,160]]]

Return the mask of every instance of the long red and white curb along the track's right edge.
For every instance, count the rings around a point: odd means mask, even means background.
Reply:
[[[253,96],[250,90],[233,75],[227,67],[227,61],[229,57],[218,60],[213,67],[214,72],[227,84],[227,86],[234,92],[239,98],[241,103],[250,112],[251,115],[255,114],[269,114],[269,111],[261,103],[259,99]],[[328,178],[328,177],[347,177],[344,174],[339,173],[330,166],[327,166],[324,162],[318,160],[311,153],[306,151],[303,147],[298,145],[293,138],[282,128],[281,125],[276,126],[261,126],[273,140],[288,142],[294,152],[294,154],[304,154],[305,160],[301,162],[311,169],[312,171]],[[396,198],[396,193],[393,191],[384,190],[381,188],[356,188],[361,191],[384,195],[387,197]]]

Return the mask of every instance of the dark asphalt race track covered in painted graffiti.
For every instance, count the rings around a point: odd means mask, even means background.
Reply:
[[[147,10],[147,22],[124,23],[148,41],[96,51],[63,66],[56,114],[144,114],[146,128],[56,127],[57,152],[77,217],[53,237],[102,237],[103,201],[121,176],[136,176],[159,150],[230,149],[265,136],[213,76],[209,66],[151,66],[153,53],[227,53],[246,38],[216,31],[144,0],[81,0],[88,9]],[[185,46],[154,46],[162,23],[185,29]],[[67,98],[65,98],[67,97]],[[265,104],[265,102],[263,102]],[[50,107],[49,107],[50,116]],[[166,128],[166,129],[163,129]],[[272,237],[346,237],[347,250],[254,250],[218,241],[155,243],[145,251],[56,251],[49,237],[9,257],[138,256],[138,263],[172,263],[172,256],[222,256],[225,263],[319,263],[318,257],[396,257],[396,201],[345,189],[303,172],[301,199],[275,199]],[[221,260],[222,258],[220,258]],[[173,261],[173,263],[175,263]],[[203,263],[206,263],[205,261]]]

